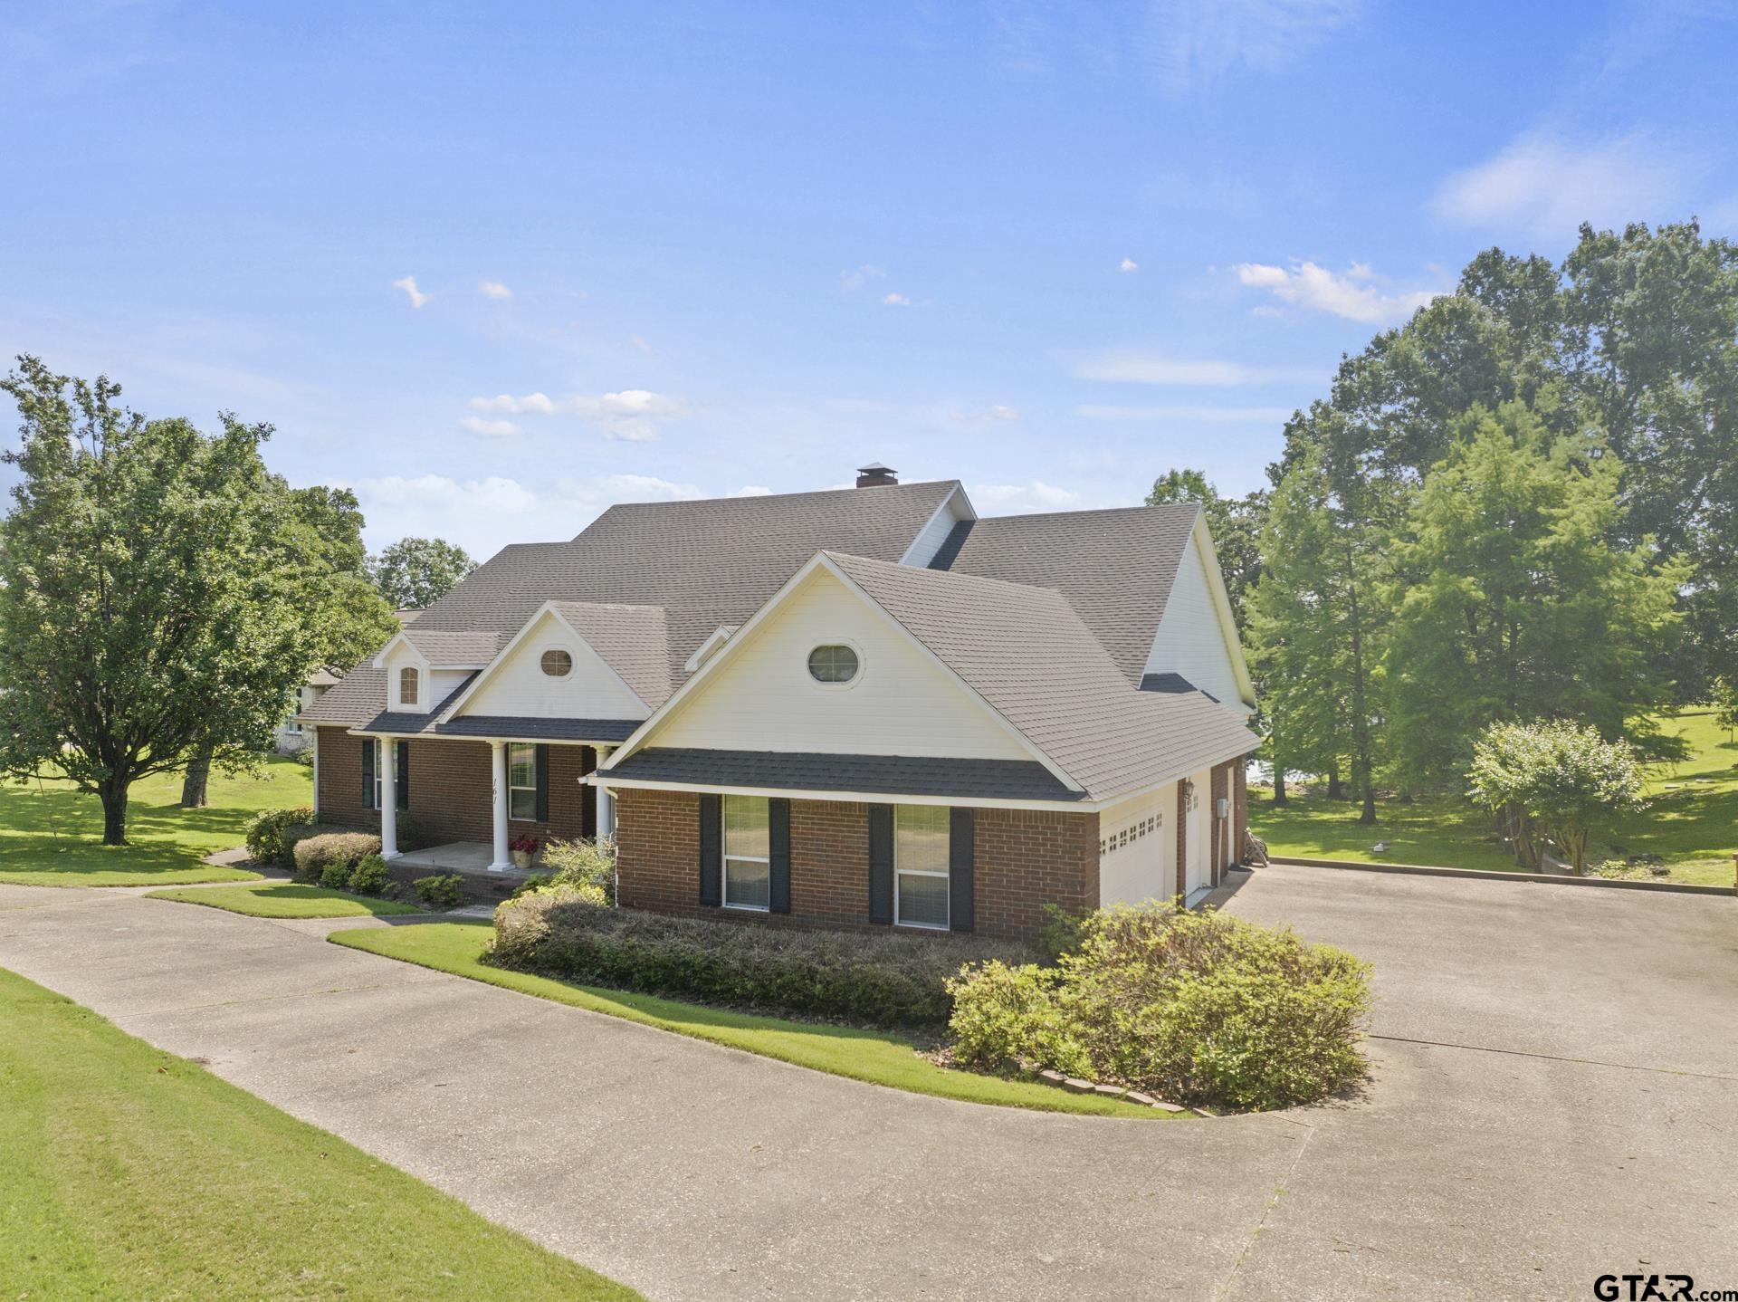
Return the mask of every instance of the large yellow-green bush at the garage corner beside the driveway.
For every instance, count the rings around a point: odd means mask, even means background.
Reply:
[[[1364,1074],[1370,968],[1290,928],[1118,906],[1051,970],[982,965],[949,982],[959,1062],[1036,1062],[1173,1102],[1314,1102]]]

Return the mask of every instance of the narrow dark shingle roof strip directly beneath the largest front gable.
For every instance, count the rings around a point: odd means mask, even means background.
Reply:
[[[601,775],[711,787],[866,791],[966,800],[1083,800],[1036,760],[940,760],[914,754],[706,751],[647,747]]]

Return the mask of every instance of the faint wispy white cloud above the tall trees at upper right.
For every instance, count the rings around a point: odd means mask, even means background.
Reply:
[[[1488,162],[1449,176],[1432,209],[1463,226],[1571,240],[1583,221],[1622,226],[1682,203],[1700,167],[1644,132],[1571,143],[1526,132]]]

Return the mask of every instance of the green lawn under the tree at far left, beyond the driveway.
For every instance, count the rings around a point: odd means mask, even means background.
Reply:
[[[30,887],[151,887],[184,881],[255,881],[257,873],[200,859],[242,845],[255,810],[313,801],[306,765],[271,756],[261,777],[210,779],[210,805],[184,810],[181,774],[132,787],[130,845],[103,845],[103,807],[71,782],[0,782],[0,881]]]

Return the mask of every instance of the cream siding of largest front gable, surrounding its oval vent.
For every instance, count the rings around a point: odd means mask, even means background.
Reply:
[[[740,647],[737,638],[726,643],[733,659],[664,720],[648,746],[1032,758],[902,629],[826,570],[747,636]],[[808,652],[829,641],[850,643],[862,661],[848,687],[808,676]]]

